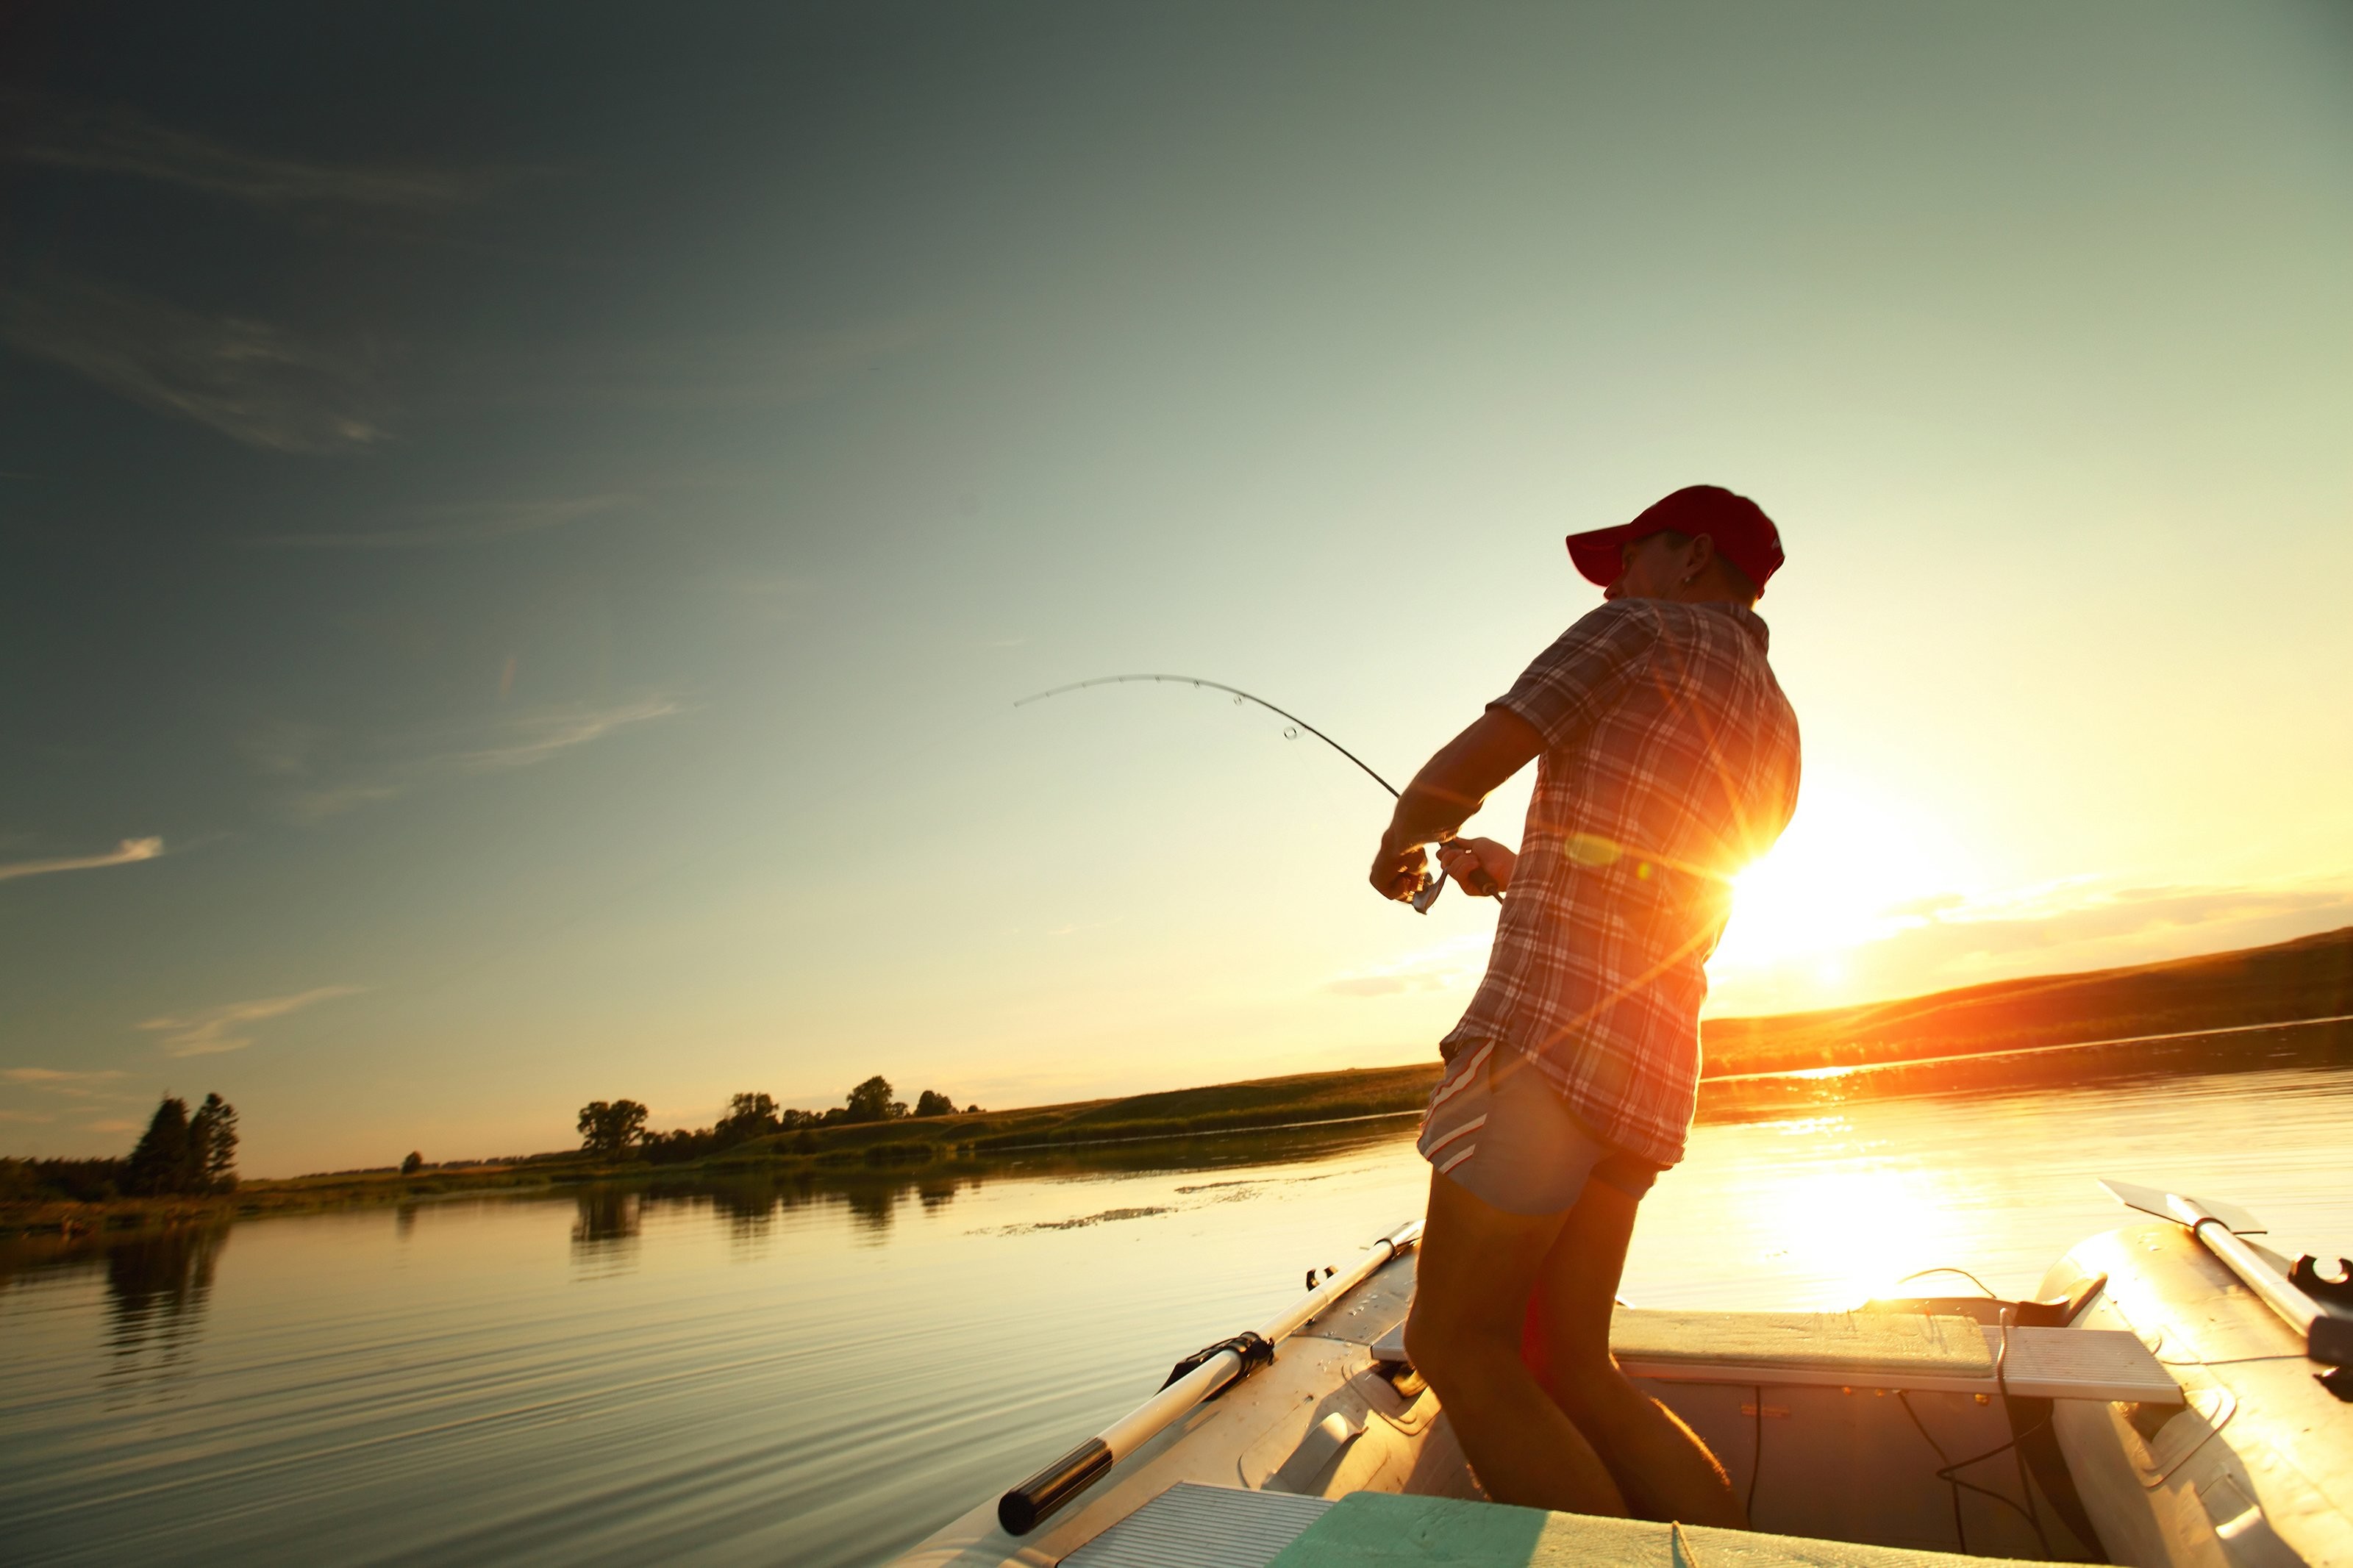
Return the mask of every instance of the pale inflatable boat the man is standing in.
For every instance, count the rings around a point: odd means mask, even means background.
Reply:
[[[2158,1222],[2078,1244],[2035,1300],[1621,1305],[1621,1371],[1706,1439],[1751,1530],[1487,1502],[1405,1356],[1412,1222],[899,1566],[2353,1568],[2353,1265],[2104,1185]]]

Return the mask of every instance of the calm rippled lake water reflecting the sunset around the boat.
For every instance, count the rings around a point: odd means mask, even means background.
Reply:
[[[1849,1305],[1937,1265],[2031,1293],[2125,1222],[2094,1175],[2353,1253],[2344,1065],[1817,1098],[1697,1128],[1628,1300]],[[0,1559],[875,1563],[1419,1213],[1409,1135],[19,1246]]]

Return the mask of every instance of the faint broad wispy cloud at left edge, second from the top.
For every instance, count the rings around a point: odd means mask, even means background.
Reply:
[[[0,341],[247,447],[358,451],[388,435],[365,355],[245,315],[49,277],[0,289]]]

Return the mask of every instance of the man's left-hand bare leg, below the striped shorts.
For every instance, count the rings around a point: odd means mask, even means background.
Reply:
[[[1405,1354],[1438,1389],[1489,1497],[1624,1516],[1609,1467],[1520,1359],[1527,1298],[1560,1232],[1558,1213],[1504,1213],[1433,1171]]]

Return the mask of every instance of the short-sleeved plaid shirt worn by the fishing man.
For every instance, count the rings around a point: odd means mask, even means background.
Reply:
[[[1699,1098],[1732,875],[1798,804],[1798,715],[1737,604],[1612,599],[1489,708],[1544,736],[1487,978],[1440,1051],[1527,1056],[1605,1143],[1671,1166]]]

